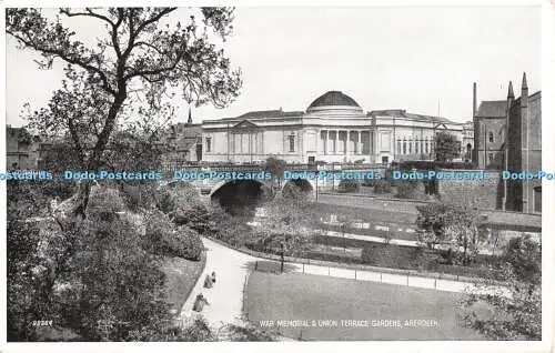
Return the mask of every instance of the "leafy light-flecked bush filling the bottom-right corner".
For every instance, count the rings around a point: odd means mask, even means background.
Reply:
[[[490,294],[471,293],[463,301],[468,326],[494,340],[542,340],[542,243],[529,235],[511,240],[501,266],[505,290],[492,290],[497,276],[483,286]],[[473,310],[485,302],[493,314]]]

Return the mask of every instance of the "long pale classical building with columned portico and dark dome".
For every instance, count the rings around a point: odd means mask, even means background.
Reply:
[[[365,112],[341,91],[316,98],[305,111],[252,111],[202,122],[202,160],[259,163],[390,163],[432,158],[433,137],[447,130],[462,141],[463,124],[404,110]]]

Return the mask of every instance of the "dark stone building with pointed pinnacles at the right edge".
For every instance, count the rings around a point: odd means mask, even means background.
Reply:
[[[521,97],[515,99],[513,83],[507,99],[483,101],[476,109],[474,83],[474,155],[478,168],[513,173],[542,170],[542,94],[528,94],[526,73]],[[542,212],[542,181],[504,181],[503,208],[511,211]]]

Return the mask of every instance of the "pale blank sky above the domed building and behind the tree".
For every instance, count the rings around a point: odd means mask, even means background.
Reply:
[[[169,19],[186,16],[183,10]],[[71,23],[94,40],[99,27]],[[539,7],[245,8],[235,10],[224,51],[241,68],[240,97],[224,109],[192,108],[194,122],[253,110],[306,110],[326,91],[352,97],[364,111],[404,109],[472,119],[472,84],[480,100],[503,100],[522,74],[542,89]],[[39,57],[7,38],[7,123],[24,103],[44,107],[60,87],[62,65],[39,70]],[[174,121],[186,121],[178,101]]]

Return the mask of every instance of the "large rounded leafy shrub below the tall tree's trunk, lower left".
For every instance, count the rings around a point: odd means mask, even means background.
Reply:
[[[83,341],[125,341],[169,317],[164,274],[142,248],[143,235],[125,218],[107,214],[99,205],[80,224],[64,276],[71,285],[60,293],[59,323]]]

